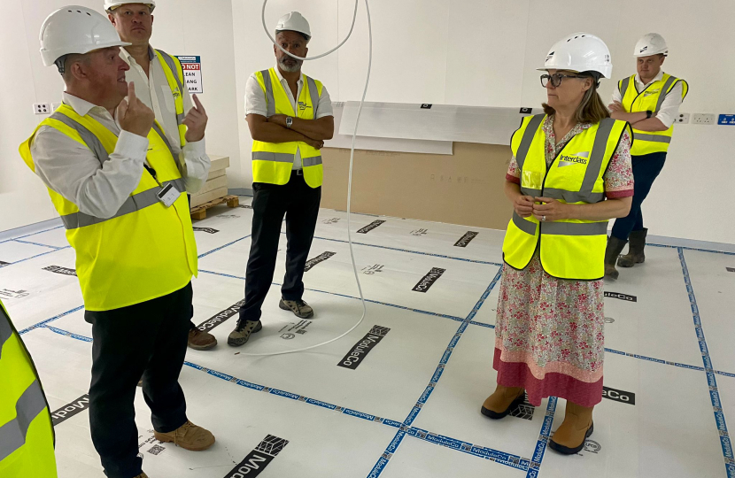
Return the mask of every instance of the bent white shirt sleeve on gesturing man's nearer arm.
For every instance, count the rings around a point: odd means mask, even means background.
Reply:
[[[148,138],[121,131],[115,150],[100,166],[87,146],[43,126],[31,144],[35,173],[84,214],[109,219],[141,181]]]

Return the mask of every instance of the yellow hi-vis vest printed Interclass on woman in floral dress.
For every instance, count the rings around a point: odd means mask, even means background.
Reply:
[[[546,166],[544,114],[523,118],[511,139],[511,150],[521,169],[525,196],[550,197],[567,204],[605,200],[602,179],[610,159],[630,125],[607,118],[575,135]],[[537,247],[547,274],[559,279],[595,281],[605,275],[607,220],[539,222],[532,215],[513,213],[503,242],[503,259],[514,269],[525,269]]]

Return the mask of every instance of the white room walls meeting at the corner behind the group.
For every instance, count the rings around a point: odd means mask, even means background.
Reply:
[[[22,164],[17,147],[41,119],[31,104],[58,101],[58,73],[38,55],[45,16],[70,0],[3,0],[0,39],[0,229],[54,217],[45,190]],[[75,0],[101,8],[102,0]],[[209,112],[209,152],[233,158],[230,188],[251,187],[251,137],[244,121],[248,76],[274,65],[260,23],[260,0],[159,0],[154,46],[201,55]],[[350,27],[352,0],[270,0],[267,25],[300,10],[310,20],[312,54],[329,50]],[[545,99],[536,68],[561,36],[579,30],[606,40],[615,79],[635,71],[640,35],[657,31],[669,42],[666,70],[689,81],[683,112],[735,112],[735,43],[728,42],[731,0],[372,0],[374,58],[369,101],[480,106],[534,106]],[[10,45],[10,48],[7,47]],[[306,64],[335,101],[358,100],[367,67],[367,20],[360,0],[352,39],[328,58]],[[614,81],[603,81],[607,101]],[[721,220],[735,176],[735,128],[677,127],[662,176],[644,206],[654,235],[735,242],[735,222]],[[239,160],[237,160],[239,158]],[[731,214],[730,214],[731,217]],[[716,224],[717,227],[712,225]]]

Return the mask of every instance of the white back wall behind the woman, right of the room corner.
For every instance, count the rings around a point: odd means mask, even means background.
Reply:
[[[240,149],[250,174],[251,140],[243,120],[247,76],[273,65],[260,25],[259,0],[233,0]],[[735,19],[731,0],[372,0],[374,58],[368,101],[538,106],[545,89],[536,71],[562,36],[588,31],[609,46],[615,80],[635,73],[631,52],[650,31],[669,42],[665,70],[689,81],[682,112],[735,113]],[[300,9],[311,22],[312,54],[344,38],[352,0],[271,0],[267,25]],[[337,35],[338,31],[338,35]],[[307,63],[336,101],[359,100],[367,64],[367,19],[360,0],[352,39],[337,57]],[[615,81],[603,81],[607,102]],[[722,220],[722,204],[735,177],[735,127],[677,126],[669,158],[644,204],[652,235],[735,243],[735,221]],[[732,218],[730,212],[724,216]],[[717,225],[714,227],[713,225]]]

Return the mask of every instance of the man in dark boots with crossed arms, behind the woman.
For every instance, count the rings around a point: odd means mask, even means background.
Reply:
[[[638,74],[618,81],[613,103],[608,106],[615,120],[628,121],[633,126],[631,155],[636,178],[631,213],[615,220],[607,243],[605,275],[611,279],[617,279],[619,274],[615,261],[618,266],[632,267],[646,259],[643,249],[648,229],[643,227],[640,206],[661,173],[674,133],[674,120],[689,91],[686,81],[662,72],[668,55],[669,47],[662,35],[648,34],[638,40],[633,53],[637,58]],[[628,253],[620,256],[629,240]]]

